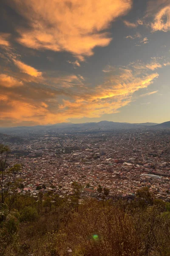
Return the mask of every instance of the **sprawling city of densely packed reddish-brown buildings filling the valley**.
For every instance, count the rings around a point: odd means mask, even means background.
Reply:
[[[37,198],[39,189],[52,190],[65,197],[72,195],[71,184],[77,181],[83,188],[81,198],[101,200],[101,185],[110,191],[107,199],[133,200],[136,191],[147,186],[156,198],[170,201],[168,129],[1,134],[0,143],[11,148],[9,166],[22,165],[17,177],[24,188],[18,188],[19,193]]]

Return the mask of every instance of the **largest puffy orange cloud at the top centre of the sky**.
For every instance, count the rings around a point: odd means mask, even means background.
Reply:
[[[125,15],[132,0],[13,0],[29,29],[17,28],[17,41],[34,49],[68,51],[80,60],[93,55],[96,46],[105,47],[111,35],[103,32],[116,18]]]

